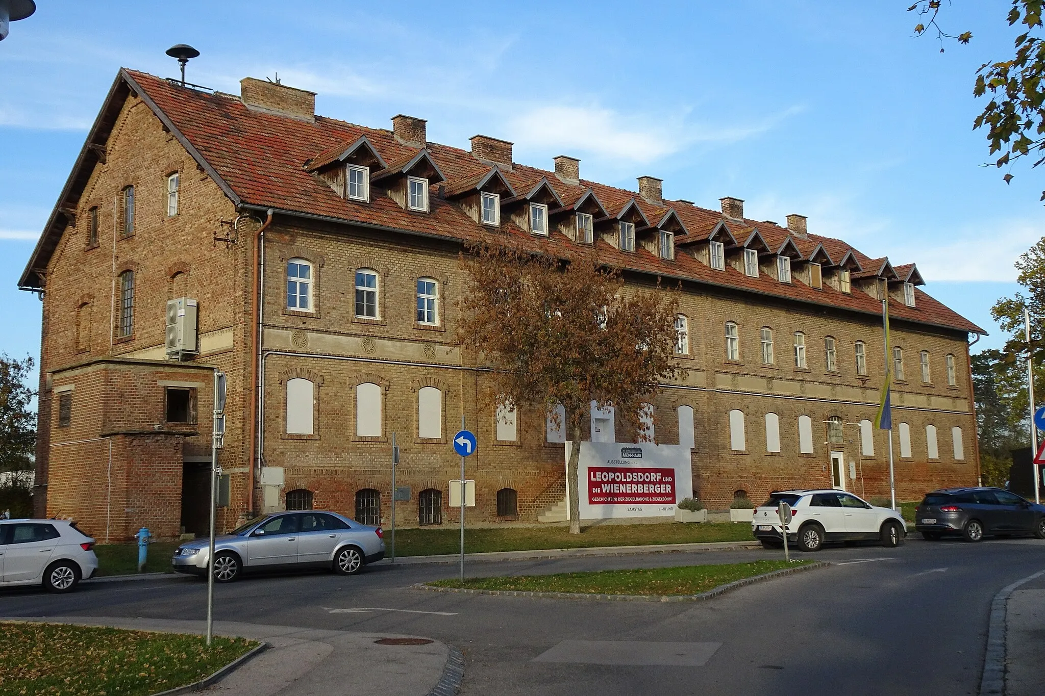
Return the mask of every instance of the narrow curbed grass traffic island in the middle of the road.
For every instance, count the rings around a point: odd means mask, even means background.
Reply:
[[[754,560],[722,566],[683,566],[680,568],[636,568],[591,573],[555,575],[510,575],[487,578],[436,580],[427,584],[466,590],[508,592],[568,592],[591,595],[677,596],[699,595],[719,585],[797,566],[812,560],[788,563],[786,560]]]

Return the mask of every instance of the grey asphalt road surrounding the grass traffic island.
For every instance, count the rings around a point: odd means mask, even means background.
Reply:
[[[746,550],[473,562],[468,574],[780,556]],[[910,538],[897,549],[834,547],[804,557],[837,565],[699,603],[474,596],[410,586],[452,577],[456,566],[381,565],[354,577],[255,576],[217,585],[215,616],[436,638],[463,650],[466,695],[976,694],[991,599],[1045,569],[1045,542]],[[206,583],[193,578],[85,583],[68,596],[0,591],[0,616],[203,619],[205,601]],[[605,641],[631,643],[587,643]],[[677,664],[649,664],[672,662]]]

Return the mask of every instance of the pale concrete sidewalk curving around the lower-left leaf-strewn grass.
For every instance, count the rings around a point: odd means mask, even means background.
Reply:
[[[44,621],[135,630],[204,633],[202,621],[47,617]],[[377,645],[397,633],[359,633],[215,621],[214,633],[263,641],[269,649],[201,693],[220,696],[449,696],[463,676],[461,653],[439,641]]]

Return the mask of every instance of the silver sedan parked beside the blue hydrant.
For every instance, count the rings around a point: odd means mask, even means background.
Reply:
[[[173,570],[206,576],[209,552],[206,538],[182,544],[171,558]],[[354,575],[384,557],[380,527],[322,510],[275,512],[214,538],[214,581],[231,582],[245,571],[286,567]]]

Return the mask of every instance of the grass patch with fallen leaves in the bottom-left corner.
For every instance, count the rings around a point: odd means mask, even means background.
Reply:
[[[0,623],[0,696],[139,696],[204,679],[258,643],[95,626]]]

